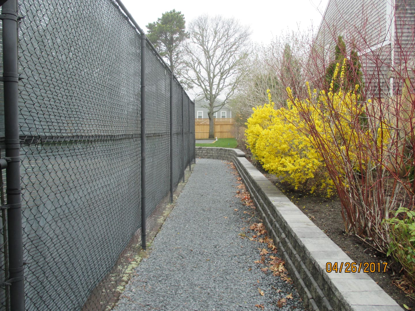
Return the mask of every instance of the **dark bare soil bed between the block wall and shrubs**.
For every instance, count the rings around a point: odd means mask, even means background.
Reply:
[[[293,202],[311,221],[332,239],[355,262],[388,262],[386,272],[369,273],[369,276],[395,301],[404,308],[415,310],[415,300],[410,298],[398,286],[402,284],[400,265],[391,257],[371,248],[367,243],[354,234],[347,234],[341,214],[341,204],[338,197],[327,198],[324,194],[310,194],[295,190],[273,174],[267,173],[260,164],[247,159],[264,174],[279,190]],[[404,308],[407,309],[407,308]]]

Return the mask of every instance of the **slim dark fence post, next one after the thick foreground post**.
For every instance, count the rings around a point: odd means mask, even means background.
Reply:
[[[141,36],[141,247],[146,250],[146,35]]]

